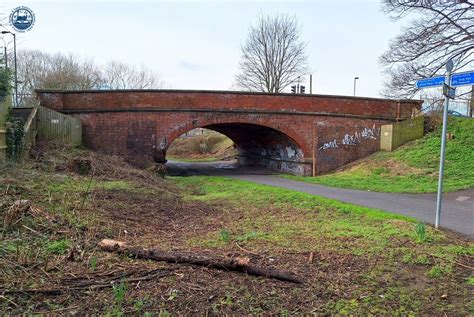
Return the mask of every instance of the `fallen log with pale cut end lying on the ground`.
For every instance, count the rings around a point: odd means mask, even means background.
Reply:
[[[163,251],[157,248],[145,249],[141,247],[128,246],[125,242],[104,239],[99,242],[99,247],[108,252],[127,254],[138,259],[147,259],[160,262],[192,264],[208,268],[246,273],[249,275],[263,276],[280,281],[302,284],[303,281],[292,272],[265,269],[250,265],[249,258],[211,258],[194,253]]]

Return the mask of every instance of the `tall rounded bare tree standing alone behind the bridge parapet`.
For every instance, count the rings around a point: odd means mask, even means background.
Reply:
[[[250,91],[279,93],[307,73],[306,44],[296,18],[260,17],[242,46],[236,85]]]

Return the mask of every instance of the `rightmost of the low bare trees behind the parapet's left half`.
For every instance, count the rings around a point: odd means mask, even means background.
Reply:
[[[125,63],[111,61],[102,71],[102,85],[108,89],[160,88],[163,82],[153,72]]]

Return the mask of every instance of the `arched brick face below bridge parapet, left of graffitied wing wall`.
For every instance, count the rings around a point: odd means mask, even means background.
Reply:
[[[181,134],[197,127],[208,127],[229,136],[240,150],[242,163],[257,163],[265,158],[265,165],[290,171],[288,162],[305,162],[312,149],[311,118],[294,116],[258,115],[249,119],[243,114],[194,113],[86,113],[74,114],[83,122],[84,141],[93,150],[107,154],[146,156],[155,161],[165,160],[168,146]],[[259,128],[257,128],[259,127]],[[278,132],[277,132],[278,131]],[[273,138],[272,138],[273,136]],[[276,136],[276,137],[275,137]],[[291,150],[292,149],[292,150]],[[299,150],[299,155],[284,156]],[[275,153],[283,153],[275,157]],[[274,157],[278,162],[270,163]],[[282,161],[283,160],[283,161]],[[287,164],[288,165],[288,164]],[[298,164],[297,164],[298,165]],[[308,162],[297,170],[311,172]],[[306,166],[308,165],[308,166]]]

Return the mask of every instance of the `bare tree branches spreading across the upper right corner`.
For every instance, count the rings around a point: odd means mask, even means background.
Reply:
[[[386,96],[413,97],[415,81],[443,74],[449,58],[454,71],[474,64],[473,2],[383,0],[382,8],[394,21],[415,17],[380,58],[389,79]]]

